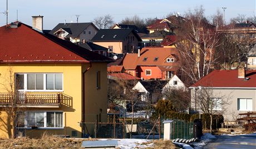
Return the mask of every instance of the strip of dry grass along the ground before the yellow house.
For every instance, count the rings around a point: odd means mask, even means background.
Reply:
[[[67,148],[75,149],[81,148],[82,141],[90,139],[71,139],[53,137],[47,134],[43,134],[41,138],[16,138],[16,139],[1,139],[0,148],[15,148],[15,149],[45,149],[45,148]]]

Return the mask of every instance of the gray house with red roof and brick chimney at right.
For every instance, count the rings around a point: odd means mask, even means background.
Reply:
[[[214,70],[189,89],[191,109],[196,112],[203,112],[208,105],[215,114],[222,114],[224,121],[235,121],[239,113],[256,111],[256,70]],[[207,104],[203,102],[205,92]]]

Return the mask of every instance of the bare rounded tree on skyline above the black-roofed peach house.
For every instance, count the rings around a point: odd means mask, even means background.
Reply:
[[[113,17],[110,14],[106,14],[105,16],[96,17],[92,20],[92,22],[99,29],[110,28],[114,24]]]

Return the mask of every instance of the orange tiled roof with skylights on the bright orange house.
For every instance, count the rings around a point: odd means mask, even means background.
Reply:
[[[167,58],[176,58],[173,63],[166,62]],[[125,70],[135,70],[136,66],[174,66],[178,68],[180,65],[179,52],[176,48],[142,48],[140,56],[138,54],[127,53],[124,56],[122,65]],[[146,59],[146,60],[145,60]]]

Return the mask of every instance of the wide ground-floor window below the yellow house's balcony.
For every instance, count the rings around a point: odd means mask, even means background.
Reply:
[[[17,115],[18,127],[63,127],[63,112],[27,111]]]

